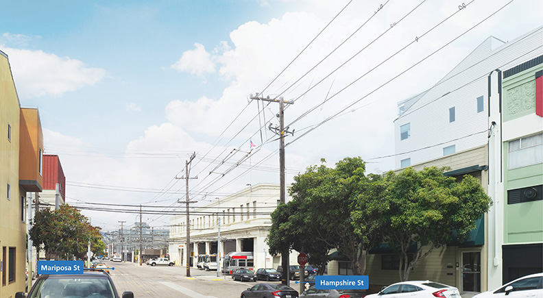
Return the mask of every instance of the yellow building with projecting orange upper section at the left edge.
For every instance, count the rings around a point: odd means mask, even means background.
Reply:
[[[0,297],[25,290],[26,198],[42,191],[42,156],[38,109],[21,108],[0,51]]]

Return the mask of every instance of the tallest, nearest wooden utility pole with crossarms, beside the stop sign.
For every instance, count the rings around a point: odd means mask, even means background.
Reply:
[[[279,103],[279,127],[272,127],[272,123],[269,123],[269,129],[278,134],[279,136],[279,191],[280,191],[280,203],[284,204],[287,197],[287,190],[285,186],[285,134],[291,134],[294,135],[294,130],[292,132],[289,132],[289,127],[285,129],[285,103],[293,104],[293,101],[285,101],[282,97],[279,97],[279,99],[270,99],[269,96],[264,97],[258,97],[258,93],[256,93],[256,96],[250,97],[251,99],[261,100],[261,101],[271,101],[275,103]],[[288,249],[285,251],[281,251],[281,266],[282,266],[282,273],[281,273],[281,282],[282,284],[286,284],[289,286],[290,284],[290,262],[289,262],[289,251]]]

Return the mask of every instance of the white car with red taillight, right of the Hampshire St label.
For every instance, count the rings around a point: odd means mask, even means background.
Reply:
[[[383,288],[377,294],[367,295],[365,298],[461,298],[458,288],[431,282],[429,280],[413,280],[397,282]]]

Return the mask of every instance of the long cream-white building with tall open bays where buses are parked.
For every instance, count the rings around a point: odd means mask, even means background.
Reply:
[[[287,202],[291,200],[286,198]],[[181,202],[182,203],[182,202]],[[270,215],[280,203],[278,184],[257,184],[190,212],[191,266],[197,256],[217,253],[219,219],[221,221],[221,258],[231,251],[252,251],[254,268],[277,268],[280,256],[269,255],[265,238],[272,226]],[[186,266],[186,215],[170,219],[169,256]],[[296,264],[296,253],[290,257]]]

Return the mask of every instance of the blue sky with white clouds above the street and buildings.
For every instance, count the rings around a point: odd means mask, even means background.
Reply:
[[[481,42],[543,25],[540,0],[3,1],[0,51],[37,107],[66,201],[104,231],[149,226],[189,198],[210,203],[360,156],[394,169],[397,103]],[[414,41],[414,42],[413,42]],[[255,146],[251,146],[252,142]],[[114,204],[125,206],[109,206]],[[108,208],[109,212],[86,208]],[[150,210],[151,208],[143,208]],[[116,212],[111,212],[116,211]]]

